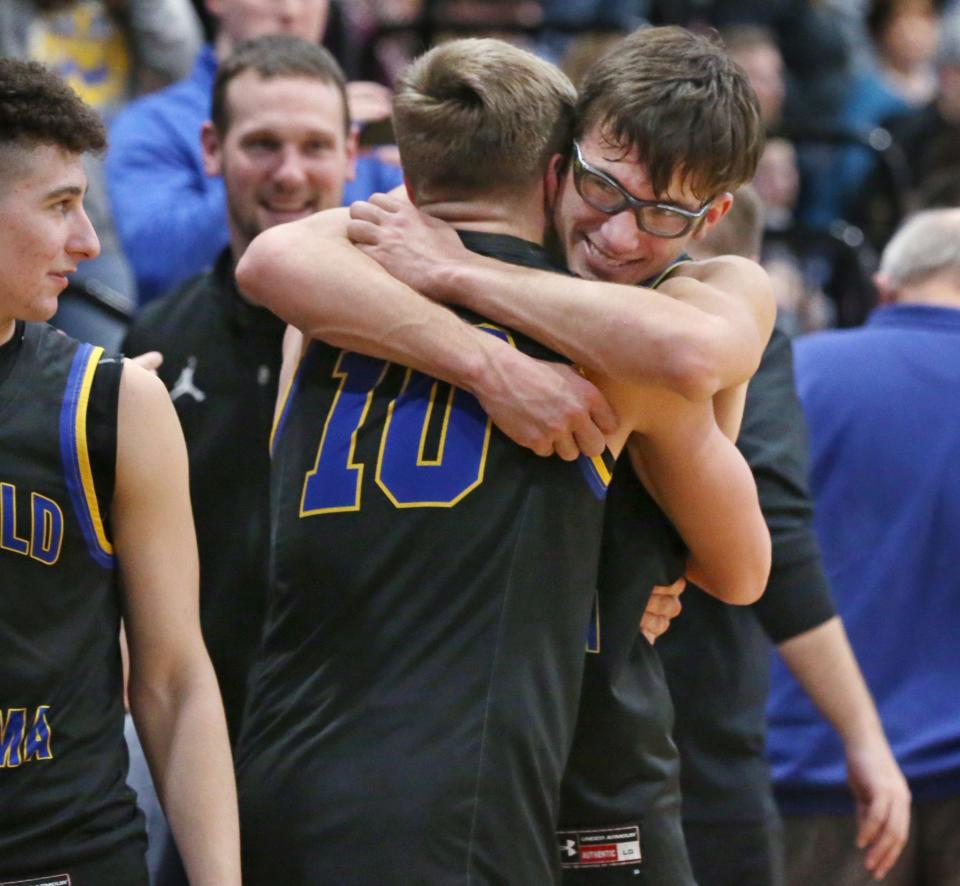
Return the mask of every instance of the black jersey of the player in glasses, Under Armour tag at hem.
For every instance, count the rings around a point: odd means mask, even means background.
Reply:
[[[692,882],[673,706],[660,659],[639,633],[653,586],[679,578],[685,557],[673,525],[621,459],[607,495],[597,617],[561,793],[564,884]]]

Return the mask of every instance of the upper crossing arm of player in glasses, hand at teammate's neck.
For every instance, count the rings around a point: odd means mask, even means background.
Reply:
[[[376,195],[350,212],[350,238],[414,289],[619,381],[706,399],[749,379],[773,326],[769,280],[747,259],[685,265],[658,289],[641,289],[475,255],[448,226],[393,197]]]

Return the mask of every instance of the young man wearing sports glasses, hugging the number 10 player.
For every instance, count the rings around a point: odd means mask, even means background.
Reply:
[[[449,231],[390,198],[356,204],[350,234],[431,298],[522,329],[611,376],[713,397],[718,421],[735,437],[746,381],[773,323],[769,281],[746,259],[683,259],[691,240],[728,212],[730,191],[752,176],[762,148],[743,72],[703,37],[678,28],[637,31],[588,73],[575,135],[570,161],[557,157],[551,170],[552,220],[567,265],[584,279],[468,254]],[[609,629],[640,620],[651,563],[660,562],[660,581],[676,577],[668,546],[647,543],[658,524],[649,509],[641,514],[644,492],[628,488],[632,479],[626,473],[611,484],[600,575],[607,630],[599,653],[587,656],[561,857],[565,882],[635,882],[642,870],[650,882],[673,886],[692,875],[669,697],[646,641]],[[624,529],[638,515],[642,543]],[[639,868],[619,858],[632,828],[644,857]],[[604,831],[611,841],[591,845]],[[574,856],[564,851],[571,840]],[[613,865],[610,853],[618,856]]]

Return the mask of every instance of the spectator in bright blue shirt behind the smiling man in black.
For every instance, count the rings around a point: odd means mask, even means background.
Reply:
[[[217,19],[217,35],[190,75],[131,104],[110,130],[107,187],[141,305],[211,266],[229,239],[223,180],[206,175],[200,147],[218,62],[237,43],[262,34],[319,41],[329,7],[328,0],[206,0],[206,5]],[[400,181],[399,167],[367,154],[344,200],[389,190]]]

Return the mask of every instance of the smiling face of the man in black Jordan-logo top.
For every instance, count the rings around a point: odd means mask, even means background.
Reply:
[[[203,132],[208,174],[223,175],[230,243],[239,258],[257,234],[339,206],[356,146],[333,83],[245,71],[227,89],[229,129]]]

